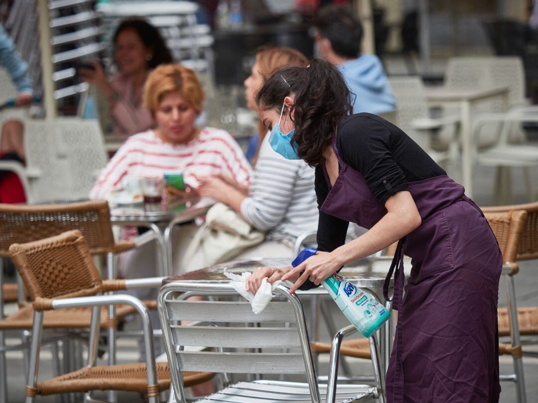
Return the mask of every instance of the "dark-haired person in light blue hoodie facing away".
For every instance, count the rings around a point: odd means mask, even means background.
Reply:
[[[314,22],[315,46],[322,59],[338,66],[352,94],[353,113],[387,114],[396,108],[387,76],[376,55],[361,54],[363,27],[349,5],[328,5]]]

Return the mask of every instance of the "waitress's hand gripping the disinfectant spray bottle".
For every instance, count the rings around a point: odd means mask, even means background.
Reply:
[[[342,267],[342,263],[335,257],[334,254],[329,252],[318,251],[314,256],[309,257],[299,266],[292,268],[285,275],[282,276],[282,281],[295,280],[295,284],[289,289],[289,293],[293,294],[307,279],[310,279],[315,285],[321,284],[321,282]],[[301,272],[304,272],[301,274]]]

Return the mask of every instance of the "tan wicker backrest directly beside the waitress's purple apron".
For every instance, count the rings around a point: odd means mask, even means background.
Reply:
[[[504,260],[505,264],[508,263],[513,268],[517,268],[515,264],[516,255],[518,253],[521,231],[525,227],[527,220],[527,211],[487,212],[484,215],[493,230],[495,238],[497,238],[499,248],[502,252],[502,260]]]

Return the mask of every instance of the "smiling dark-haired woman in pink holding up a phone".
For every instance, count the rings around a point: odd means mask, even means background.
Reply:
[[[109,81],[99,61],[93,69],[79,68],[80,80],[94,84],[107,98],[116,135],[133,135],[152,128],[142,93],[148,74],[155,67],[172,63],[172,55],[159,31],[141,19],[121,22],[113,37],[118,73]]]

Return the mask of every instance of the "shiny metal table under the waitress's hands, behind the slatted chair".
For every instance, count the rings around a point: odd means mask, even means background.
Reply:
[[[346,280],[352,281],[357,287],[366,288],[376,298],[383,301],[383,284],[385,277],[390,267],[392,257],[369,257],[360,259],[348,266],[342,268],[339,274]],[[195,281],[195,282],[227,282],[230,281],[228,277],[224,275],[224,270],[230,273],[240,274],[247,271],[254,271],[258,267],[285,267],[289,266],[289,259],[281,258],[264,258],[264,259],[251,259],[251,260],[235,260],[228,263],[223,263],[211,267],[201,268],[200,270],[192,271],[189,273],[169,277],[163,281],[163,284],[168,284],[174,281]],[[411,268],[411,259],[404,259],[404,271],[406,275],[409,274]],[[393,280],[391,280],[392,286]],[[336,333],[336,327],[332,323],[331,316],[327,312],[327,308],[320,303],[320,296],[329,295],[323,287],[309,289],[307,291],[297,291],[297,295],[309,296],[312,302],[312,309],[310,309],[310,335],[312,340],[318,340],[319,333],[319,321],[318,317],[321,313],[323,315],[325,324],[330,334]],[[385,306],[390,309],[390,303],[385,303]],[[321,312],[320,312],[321,311]],[[390,358],[391,346],[392,346],[392,323],[391,321],[385,322],[385,326],[380,329],[379,343],[381,351],[381,362],[385,367],[385,371],[388,368],[388,360]],[[344,364],[345,365],[345,364]],[[345,370],[345,367],[344,367]],[[348,371],[346,371],[348,372]]]

